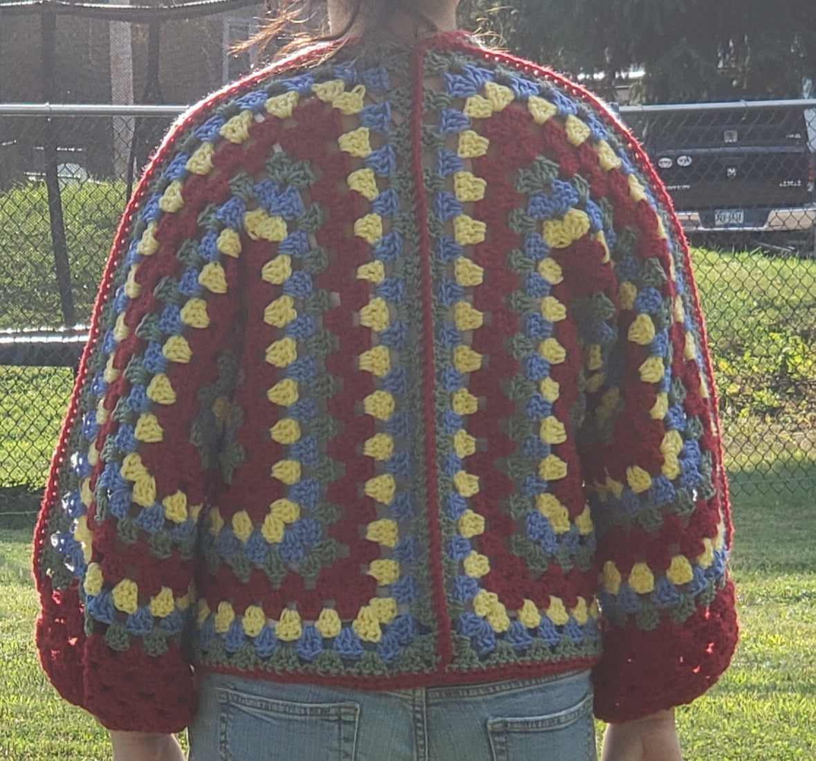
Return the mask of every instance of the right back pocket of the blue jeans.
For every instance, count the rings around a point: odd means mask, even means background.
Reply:
[[[592,693],[542,716],[487,719],[494,761],[596,761]]]

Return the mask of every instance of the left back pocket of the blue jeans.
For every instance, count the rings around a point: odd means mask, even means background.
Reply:
[[[360,706],[295,703],[216,688],[220,761],[354,761]]]

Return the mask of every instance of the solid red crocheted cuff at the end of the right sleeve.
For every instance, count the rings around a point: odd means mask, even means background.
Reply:
[[[682,626],[664,618],[643,631],[630,620],[605,631],[604,655],[593,674],[596,717],[623,723],[690,703],[725,671],[737,639],[730,581]]]

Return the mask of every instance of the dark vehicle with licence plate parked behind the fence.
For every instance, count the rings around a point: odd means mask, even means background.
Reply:
[[[766,101],[621,110],[687,232],[812,237],[816,109]]]

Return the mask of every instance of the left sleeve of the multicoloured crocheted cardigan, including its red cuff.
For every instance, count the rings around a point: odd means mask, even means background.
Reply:
[[[35,536],[43,668],[110,729],[177,732],[195,706],[184,633],[231,415],[240,242],[206,211],[230,191],[191,132],[171,133],[118,231]]]

